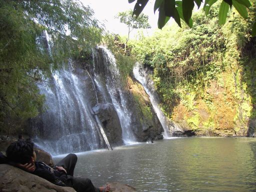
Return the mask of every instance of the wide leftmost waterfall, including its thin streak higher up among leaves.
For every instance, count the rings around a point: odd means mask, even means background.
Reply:
[[[50,36],[46,31],[37,41],[41,51],[52,56]],[[92,111],[93,91],[98,102],[93,79],[86,69],[72,65],[70,60],[68,67],[55,71],[51,78],[39,85],[40,92],[45,95],[46,109],[30,121],[36,135],[34,141],[51,154],[105,146],[112,149],[102,123]]]

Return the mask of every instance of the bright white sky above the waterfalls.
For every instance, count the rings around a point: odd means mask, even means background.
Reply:
[[[158,11],[153,12],[155,0],[149,0],[142,13],[148,15],[148,22],[151,29],[144,30],[144,35],[152,34],[157,28]],[[114,34],[127,35],[128,28],[120,23],[118,18],[114,18],[118,12],[132,9],[136,0],[128,3],[128,0],[81,0],[84,5],[89,5],[94,10],[94,17],[105,25],[105,28]],[[131,37],[135,36],[136,31],[132,31]]]

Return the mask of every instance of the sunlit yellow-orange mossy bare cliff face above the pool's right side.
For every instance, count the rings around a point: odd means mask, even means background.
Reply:
[[[236,73],[227,70],[219,74],[199,96],[193,91],[183,92],[171,119],[195,130],[197,135],[252,136],[255,111],[241,72],[237,68]]]

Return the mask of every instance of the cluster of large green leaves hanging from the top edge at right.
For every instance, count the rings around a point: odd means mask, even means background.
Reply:
[[[129,3],[135,0],[128,0]],[[210,7],[214,4],[217,0],[205,0],[203,5],[203,10],[205,15],[209,13]],[[146,6],[148,0],[137,0],[136,4],[134,5],[133,14],[136,17],[139,16],[143,8]],[[194,3],[200,7],[202,4],[202,0],[155,0],[154,3],[154,12],[158,9],[159,16],[158,16],[158,28],[162,28],[170,17],[174,18],[175,22],[181,27],[180,19],[184,20],[185,23],[192,27],[192,10],[194,7]],[[226,22],[226,17],[228,11],[231,7],[237,10],[237,12],[243,17],[248,17],[248,12],[246,8],[251,6],[249,0],[222,0],[219,6],[219,13],[218,13],[218,21],[219,24],[224,24]],[[230,8],[229,8],[230,7]],[[252,25],[252,36],[256,35],[256,21],[253,21]]]

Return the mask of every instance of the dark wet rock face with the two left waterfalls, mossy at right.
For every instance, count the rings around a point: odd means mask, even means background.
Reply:
[[[49,88],[41,87],[48,108],[28,125],[36,143],[51,154],[104,148],[101,124],[113,146],[121,145],[125,135],[134,141],[161,138],[163,129],[143,88],[137,104],[114,55],[99,47],[92,57],[91,62],[72,61],[52,75]]]

